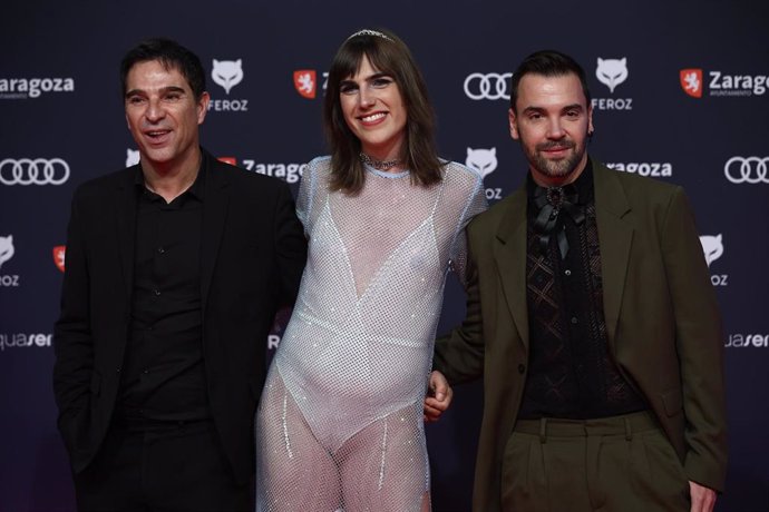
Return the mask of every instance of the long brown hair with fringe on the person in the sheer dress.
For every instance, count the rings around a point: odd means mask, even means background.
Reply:
[[[323,124],[331,149],[330,188],[356,195],[366,183],[366,169],[359,157],[361,144],[347,126],[340,101],[342,80],[360,70],[363,56],[377,71],[392,77],[406,106],[401,158],[411,173],[411,183],[428,187],[440,181],[444,163],[436,150],[435,114],[425,79],[403,41],[390,31],[377,29],[350,36],[337,51],[329,69]]]

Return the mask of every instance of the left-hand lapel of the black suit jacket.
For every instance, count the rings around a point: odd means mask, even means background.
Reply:
[[[134,244],[136,242],[136,169],[126,171],[117,185],[115,200],[115,219],[117,223],[117,243],[126,301],[130,301],[134,289]]]

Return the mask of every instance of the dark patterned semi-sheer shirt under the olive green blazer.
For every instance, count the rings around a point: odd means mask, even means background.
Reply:
[[[592,164],[575,180],[580,224],[564,209],[546,252],[533,228],[537,217],[527,180],[526,298],[529,372],[518,417],[591,419],[646,408],[610,354],[603,314],[601,245]],[[568,243],[562,259],[557,232]]]

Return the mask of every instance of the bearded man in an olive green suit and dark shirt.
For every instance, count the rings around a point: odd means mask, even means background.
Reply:
[[[476,511],[710,511],[726,473],[722,338],[680,187],[607,169],[583,69],[513,76],[526,184],[468,227],[454,385],[484,376]]]

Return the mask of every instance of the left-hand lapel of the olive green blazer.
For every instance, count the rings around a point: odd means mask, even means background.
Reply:
[[[519,187],[507,199],[494,240],[494,259],[518,336],[528,347],[526,308],[526,187]]]

